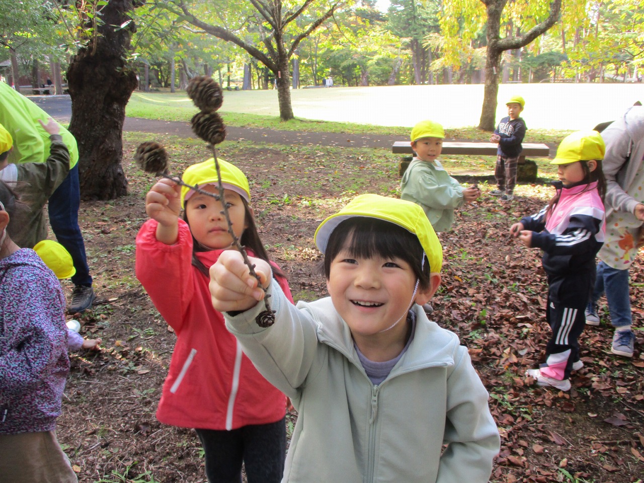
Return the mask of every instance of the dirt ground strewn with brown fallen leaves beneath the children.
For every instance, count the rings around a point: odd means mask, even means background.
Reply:
[[[93,309],[79,317],[81,334],[102,337],[103,344],[99,352],[70,356],[59,440],[81,483],[205,482],[193,431],[155,419],[176,337],[135,278],[135,236],[147,219],[144,195],[155,178],[131,163],[138,143],[150,136],[126,138],[130,194],[81,207],[98,296]],[[153,138],[166,144],[173,173],[205,158],[203,144],[195,140]],[[384,150],[222,146],[222,156],[249,175],[261,237],[287,272],[296,300],[326,294],[312,241],[319,222],[357,193],[397,196],[396,160]],[[450,169],[449,161],[446,166]],[[632,270],[639,328],[635,357],[609,354],[612,330],[604,324],[582,335],[585,368],[574,375],[570,393],[528,386],[522,377],[536,366],[549,337],[547,286],[538,251],[508,240],[507,229],[538,211],[550,190],[520,185],[511,204],[484,194],[459,211],[454,230],[441,235],[446,263],[433,319],[459,334],[490,392],[502,435],[493,481],[638,482],[644,475],[641,256]],[[289,414],[289,434],[296,417]]]

